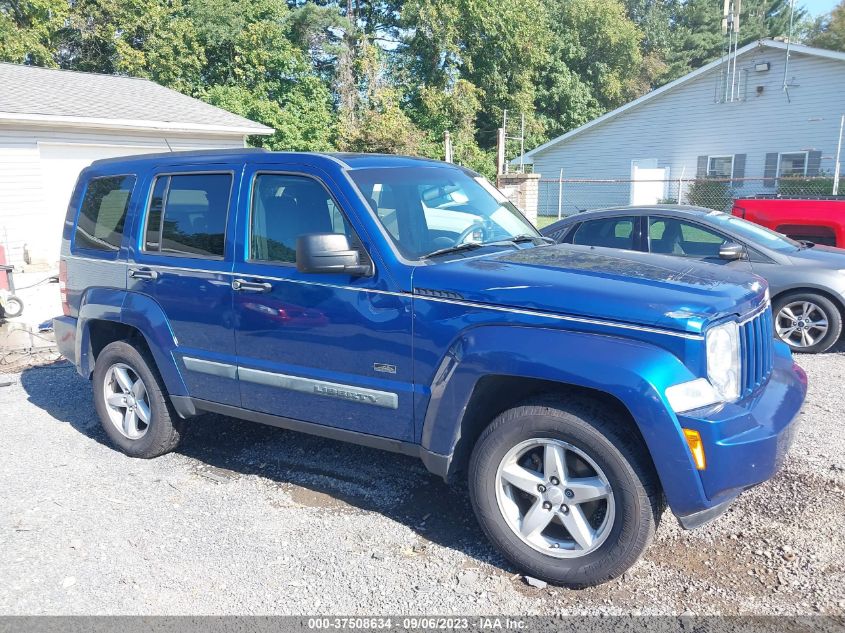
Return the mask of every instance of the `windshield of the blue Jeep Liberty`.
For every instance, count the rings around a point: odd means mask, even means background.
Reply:
[[[408,259],[521,236],[542,239],[493,185],[456,167],[354,169],[349,175]]]

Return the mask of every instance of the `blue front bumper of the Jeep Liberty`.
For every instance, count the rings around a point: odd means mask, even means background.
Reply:
[[[772,374],[756,393],[678,416],[682,428],[701,434],[707,457],[707,468],[698,471],[706,499],[693,512],[678,515],[684,527],[716,518],[743,490],[777,473],[792,445],[806,394],[807,375],[786,345],[776,343]]]

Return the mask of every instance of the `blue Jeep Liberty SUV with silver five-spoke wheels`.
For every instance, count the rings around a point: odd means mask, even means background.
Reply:
[[[484,178],[399,156],[97,161],[64,226],[61,352],[124,453],[216,412],[468,481],[515,566],[622,574],[772,477],[806,376],[763,280],[554,245]],[[194,423],[201,423],[196,421]]]

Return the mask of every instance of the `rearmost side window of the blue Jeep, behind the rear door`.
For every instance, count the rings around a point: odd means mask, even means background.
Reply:
[[[74,246],[95,251],[118,251],[134,187],[135,176],[92,178],[82,199]]]

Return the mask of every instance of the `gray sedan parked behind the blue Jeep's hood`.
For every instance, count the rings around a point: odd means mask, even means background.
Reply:
[[[775,331],[794,351],[823,352],[842,334],[845,249],[678,205],[588,211],[541,232],[557,242],[690,257],[760,275],[769,282]]]

